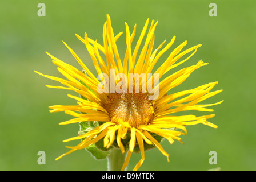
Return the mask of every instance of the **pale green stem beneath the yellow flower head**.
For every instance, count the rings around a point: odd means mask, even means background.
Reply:
[[[120,148],[115,148],[115,147],[113,147],[109,151],[109,155],[107,156],[108,171],[120,171],[121,170],[123,163],[125,162],[127,151],[125,151],[125,153],[122,154]]]

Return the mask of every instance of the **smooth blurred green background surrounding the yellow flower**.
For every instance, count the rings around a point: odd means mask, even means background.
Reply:
[[[39,17],[38,3],[45,3],[46,16]],[[217,17],[209,16],[209,4],[217,4]],[[85,32],[102,43],[102,27],[110,14],[114,33],[123,31],[125,23],[137,36],[147,18],[159,20],[155,46],[176,35],[172,47],[184,40],[186,48],[202,44],[197,53],[178,69],[197,63],[209,65],[197,69],[175,91],[195,88],[218,81],[214,90],[223,92],[207,100],[216,116],[209,119],[218,125],[187,127],[182,136],[185,144],[164,140],[163,148],[170,154],[170,163],[157,149],[146,152],[140,170],[222,170],[256,169],[255,134],[255,32],[256,2],[252,1],[1,1],[0,2],[0,169],[1,170],[106,170],[106,160],[94,160],[84,150],[76,151],[55,162],[68,151],[63,139],[77,135],[79,126],[58,125],[71,117],[65,113],[49,113],[50,105],[69,105],[75,101],[66,90],[49,89],[46,84],[59,85],[34,73],[60,76],[45,51],[62,61],[78,66],[62,40],[77,52],[91,68],[93,62],[75,33]],[[125,53],[125,34],[118,40]],[[172,50],[170,49],[170,51]],[[170,53],[169,51],[169,53]],[[168,54],[159,60],[163,63]],[[174,90],[172,91],[174,92]],[[74,94],[74,93],[72,93]],[[197,113],[197,115],[205,113]],[[206,113],[209,114],[209,113]],[[73,146],[78,141],[67,145]],[[46,164],[37,163],[38,151],[46,152]],[[217,152],[217,164],[209,164],[209,152]],[[131,156],[128,169],[133,169],[141,155]]]

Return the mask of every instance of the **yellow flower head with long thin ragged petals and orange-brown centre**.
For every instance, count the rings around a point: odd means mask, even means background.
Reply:
[[[134,170],[137,170],[145,160],[145,144],[157,147],[169,161],[169,154],[167,154],[161,144],[159,144],[158,140],[155,139],[155,135],[166,138],[172,144],[174,139],[181,142],[179,136],[187,133],[185,128],[187,125],[202,123],[203,125],[217,128],[216,125],[207,121],[207,119],[214,117],[214,114],[199,117],[195,115],[175,116],[175,113],[187,110],[213,111],[206,107],[220,104],[222,101],[207,105],[198,103],[222,91],[210,92],[217,82],[210,82],[209,84],[198,86],[194,89],[167,94],[169,90],[185,81],[195,69],[207,64],[200,60],[196,65],[183,68],[166,76],[171,69],[184,63],[193,56],[201,44],[181,52],[183,47],[187,44],[187,41],[183,42],[170,53],[163,64],[151,75],[150,73],[153,71],[157,61],[174,43],[175,36],[161,51],[159,51],[159,49],[161,49],[165,41],[153,51],[155,39],[154,31],[158,22],[152,20],[146,35],[148,24],[149,19],[147,19],[134,51],[132,52],[131,44],[135,36],[136,25],[134,26],[132,34],[130,34],[129,27],[127,23],[125,23],[127,48],[123,61],[121,61],[116,44],[122,32],[114,35],[109,15],[107,15],[107,21],[103,26],[103,46],[99,44],[97,40],[94,41],[88,38],[86,33],[84,39],[76,34],[77,38],[85,43],[99,75],[98,77],[95,77],[93,73],[91,73],[90,69],[86,67],[83,61],[65,42],[65,46],[82,66],[86,75],[77,68],[63,63],[61,60],[47,53],[51,59],[53,59],[53,63],[58,66],[58,71],[61,72],[67,80],[37,72],[42,76],[59,81],[61,84],[65,85],[46,86],[50,88],[74,90],[81,95],[81,97],[68,95],[77,100],[78,105],[50,106],[50,109],[53,109],[51,112],[65,111],[66,114],[75,117],[69,121],[61,122],[60,125],[86,121],[100,122],[100,125],[93,130],[78,135],[77,137],[64,140],[64,142],[68,142],[70,140],[83,139],[77,146],[67,147],[71,150],[59,156],[57,160],[71,152],[91,146],[103,139],[103,144],[106,148],[112,146],[114,142],[117,143],[117,146],[123,153],[125,153],[127,148],[128,153],[122,169],[125,169],[129,163],[130,156],[134,151],[135,145],[137,145],[142,156],[142,159],[139,160],[134,167]],[[146,40],[139,53],[139,48],[142,45],[142,40],[145,35]],[[189,56],[178,61],[190,52],[191,54]],[[106,56],[105,61],[101,55]],[[141,79],[135,77],[136,73],[137,76],[141,76]],[[125,75],[125,77],[123,77],[123,75]],[[166,76],[165,78],[163,78],[164,75]],[[143,80],[142,76],[146,76],[146,80]],[[162,80],[158,82],[161,78]],[[84,84],[82,84],[82,82]],[[150,85],[153,86],[150,88]],[[139,86],[139,92],[138,90],[136,92],[136,86]],[[121,91],[116,90],[118,88],[121,89]],[[157,95],[155,95],[155,92],[157,92]],[[154,95],[156,97],[151,97]],[[123,141],[127,139],[128,135],[129,141],[126,143],[126,147]]]

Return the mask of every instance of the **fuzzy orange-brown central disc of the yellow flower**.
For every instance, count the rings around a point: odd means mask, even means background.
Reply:
[[[128,122],[131,127],[148,125],[154,117],[153,106],[143,93],[110,93],[105,109],[112,122]]]

